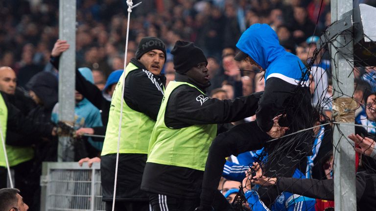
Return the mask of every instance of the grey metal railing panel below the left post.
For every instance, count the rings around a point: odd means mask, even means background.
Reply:
[[[41,211],[105,210],[99,163],[45,162],[41,187]]]

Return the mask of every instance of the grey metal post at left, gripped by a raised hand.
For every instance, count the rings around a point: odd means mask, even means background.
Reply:
[[[76,66],[76,0],[60,0],[59,39],[70,48],[61,55],[59,63],[59,121],[74,122],[74,89]],[[69,136],[60,136],[58,161],[73,161],[74,151]]]

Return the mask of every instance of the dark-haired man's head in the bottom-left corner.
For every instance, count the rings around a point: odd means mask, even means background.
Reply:
[[[0,211],[27,211],[29,206],[24,203],[20,190],[13,188],[0,189]]]

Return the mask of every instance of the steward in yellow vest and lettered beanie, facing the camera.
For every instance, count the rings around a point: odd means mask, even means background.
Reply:
[[[115,210],[149,211],[148,196],[140,190],[140,185],[150,134],[164,94],[165,77],[161,75],[161,70],[165,58],[164,42],[155,37],[141,39],[136,58],[127,65],[116,85],[101,153],[101,182],[106,211],[112,210],[121,101]],[[121,93],[122,86],[124,95]]]

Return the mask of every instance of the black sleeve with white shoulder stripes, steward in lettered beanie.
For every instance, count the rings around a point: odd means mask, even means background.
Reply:
[[[157,120],[164,95],[163,82],[149,71],[130,72],[124,85],[124,101],[133,110]]]

